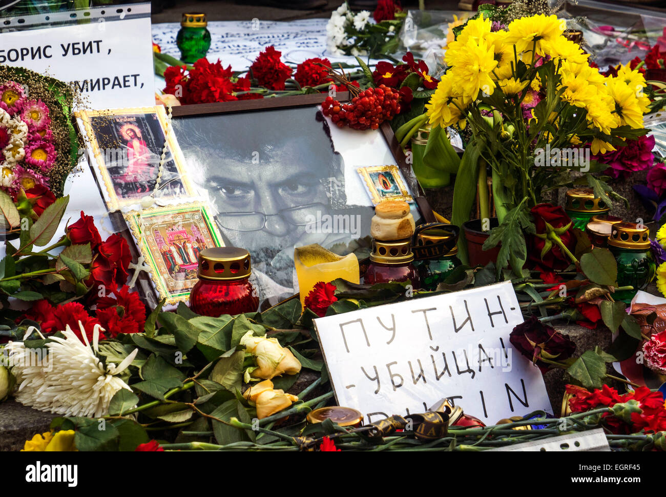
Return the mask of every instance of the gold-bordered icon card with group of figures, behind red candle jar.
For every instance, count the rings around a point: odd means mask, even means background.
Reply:
[[[187,301],[198,281],[199,253],[224,245],[203,203],[155,207],[125,214],[159,298],[167,305]]]

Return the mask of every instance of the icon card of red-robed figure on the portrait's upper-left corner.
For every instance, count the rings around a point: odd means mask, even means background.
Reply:
[[[109,211],[141,204],[149,195],[161,205],[191,196],[176,139],[165,132],[163,106],[85,110],[77,117]]]

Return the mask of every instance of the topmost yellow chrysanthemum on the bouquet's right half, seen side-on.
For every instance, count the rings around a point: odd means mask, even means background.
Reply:
[[[550,43],[555,43],[564,31],[565,23],[556,15],[532,15],[511,21],[508,27],[507,43],[516,46],[518,52],[532,50],[537,55],[549,55],[545,51]]]

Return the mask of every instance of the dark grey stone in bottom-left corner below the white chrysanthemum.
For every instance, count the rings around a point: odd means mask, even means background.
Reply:
[[[0,403],[0,450],[21,450],[26,440],[49,431],[55,414],[34,410],[7,400]]]

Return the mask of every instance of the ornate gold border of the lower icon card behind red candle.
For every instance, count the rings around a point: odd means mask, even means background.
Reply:
[[[212,215],[210,214],[209,210],[210,206],[207,205],[205,202],[191,202],[191,203],[180,203],[174,205],[165,205],[161,207],[151,207],[149,209],[143,209],[143,211],[133,210],[123,213],[123,218],[125,219],[125,223],[127,223],[129,232],[134,238],[135,245],[137,246],[137,250],[139,251],[139,256],[143,256],[144,264],[146,264],[147,266],[149,266],[149,268],[151,268],[149,279],[153,283],[153,290],[155,290],[155,292],[157,293],[157,299],[158,300],[165,299],[166,300],[165,304],[167,306],[176,305],[178,304],[178,302],[187,302],[189,299],[190,292],[187,292],[186,295],[178,296],[177,294],[170,292],[168,288],[166,288],[163,278],[159,276],[161,272],[157,267],[157,264],[155,263],[155,248],[151,247],[149,243],[147,243],[146,238],[143,236],[142,234],[143,231],[141,230],[139,219],[141,219],[142,215],[151,216],[151,215],[160,215],[160,214],[164,215],[164,214],[182,213],[188,211],[200,211],[202,213],[202,218],[204,219],[204,223],[208,228],[210,236],[212,237],[213,241],[216,243],[215,246],[222,247],[224,246],[224,242],[222,241],[222,235],[218,231],[214,221],[212,221]]]

